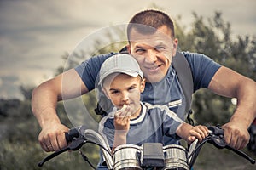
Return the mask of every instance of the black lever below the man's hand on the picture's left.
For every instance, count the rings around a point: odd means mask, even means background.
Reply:
[[[47,156],[44,158],[44,160],[40,161],[38,163],[38,167],[43,167],[44,163],[46,161],[49,161],[50,159],[54,158],[55,156],[58,156],[60,155],[61,153],[65,152],[65,151],[68,151],[68,150],[79,150],[84,144],[86,143],[86,140],[83,139],[82,137],[79,137],[79,138],[73,138],[71,144],[67,145],[67,147],[61,149],[61,150],[58,150],[58,151],[55,151],[53,154]]]

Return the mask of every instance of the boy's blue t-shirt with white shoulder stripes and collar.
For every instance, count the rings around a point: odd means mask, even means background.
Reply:
[[[183,123],[176,113],[170,111],[166,105],[150,105],[141,102],[142,110],[137,118],[130,120],[130,129],[126,135],[126,144],[162,143],[164,136],[169,136],[176,144],[177,127]],[[104,116],[99,124],[99,133],[113,147],[114,139],[114,113],[113,111]]]

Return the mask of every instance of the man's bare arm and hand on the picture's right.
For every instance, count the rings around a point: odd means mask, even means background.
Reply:
[[[241,150],[248,143],[247,129],[256,116],[256,82],[222,66],[208,88],[215,94],[237,99],[236,111],[223,128],[227,144]]]

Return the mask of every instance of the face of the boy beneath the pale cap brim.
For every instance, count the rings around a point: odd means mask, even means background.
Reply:
[[[141,77],[130,77],[126,74],[115,74],[114,77],[106,78],[103,91],[113,105],[121,109],[123,105],[131,107],[132,114],[140,109],[140,94],[145,87],[145,80]],[[112,80],[112,81],[111,81]]]

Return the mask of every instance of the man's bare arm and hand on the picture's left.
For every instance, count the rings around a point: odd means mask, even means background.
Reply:
[[[57,102],[88,92],[77,71],[71,69],[43,82],[32,92],[32,113],[42,128],[38,141],[45,151],[60,150],[66,146],[64,133],[68,128],[61,124],[56,113]]]

